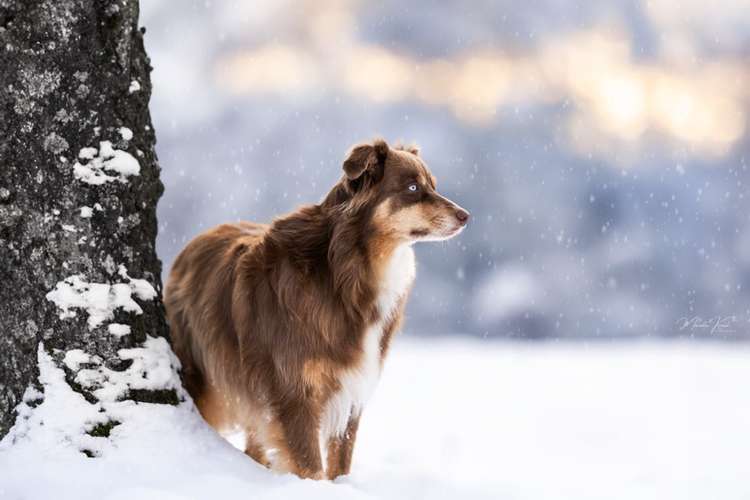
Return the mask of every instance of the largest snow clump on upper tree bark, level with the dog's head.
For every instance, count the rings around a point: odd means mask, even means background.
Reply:
[[[127,134],[125,134],[127,135]],[[132,138],[132,132],[130,132]],[[120,149],[115,149],[110,141],[101,141],[99,149],[83,148],[78,152],[78,158],[85,163],[76,162],[73,165],[73,175],[76,179],[87,184],[100,186],[107,182],[127,182],[128,177],[141,173],[138,160]],[[107,174],[105,171],[116,175]]]

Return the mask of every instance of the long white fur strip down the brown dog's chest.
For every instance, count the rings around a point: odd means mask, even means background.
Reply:
[[[381,279],[378,292],[380,320],[367,328],[362,339],[363,356],[357,366],[349,369],[339,380],[341,389],[331,397],[323,412],[320,427],[321,446],[325,448],[331,436],[346,431],[351,415],[358,415],[372,395],[380,378],[380,341],[383,328],[391,319],[399,300],[414,281],[416,268],[414,250],[402,245],[393,252]]]

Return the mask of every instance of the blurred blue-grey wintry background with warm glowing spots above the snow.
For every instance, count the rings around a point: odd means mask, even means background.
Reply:
[[[176,6],[178,6],[176,8]],[[410,335],[750,339],[748,0],[141,0],[165,277],[416,142],[473,213]]]

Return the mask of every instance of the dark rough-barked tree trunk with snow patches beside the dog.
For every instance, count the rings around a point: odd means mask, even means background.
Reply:
[[[0,0],[0,437],[38,356],[92,405],[177,402],[133,365],[169,353],[150,70],[137,0]]]

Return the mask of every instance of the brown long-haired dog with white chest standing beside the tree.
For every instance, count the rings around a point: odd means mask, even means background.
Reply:
[[[451,238],[469,219],[437,193],[415,148],[358,145],[344,173],[319,205],[198,236],[165,292],[203,417],[239,426],[249,456],[301,477],[349,472],[414,280],[411,245]]]

